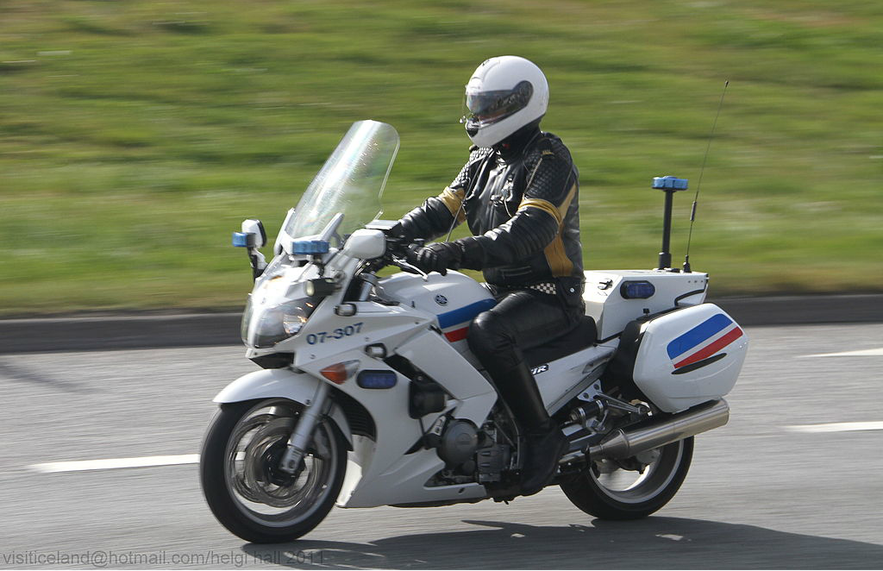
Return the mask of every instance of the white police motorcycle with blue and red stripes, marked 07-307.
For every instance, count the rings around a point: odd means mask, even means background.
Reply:
[[[390,125],[355,123],[288,212],[269,263],[262,224],[234,233],[255,277],[242,339],[262,369],[215,397],[200,478],[214,515],[247,541],[294,540],[335,504],[520,494],[518,427],[466,340],[494,298],[462,273],[421,272],[396,223],[376,219],[398,146]],[[656,180],[670,213],[686,181]],[[570,440],[553,484],[599,518],[671,500],[693,436],[726,424],[722,397],[747,351],[739,325],[704,303],[707,274],[660,257],[654,270],[587,271],[583,322],[525,353]]]

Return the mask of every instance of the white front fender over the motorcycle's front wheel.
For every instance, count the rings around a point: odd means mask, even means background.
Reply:
[[[227,404],[255,399],[284,398],[308,405],[321,382],[306,373],[295,373],[289,369],[264,369],[239,377],[224,387],[215,396],[214,402]],[[334,404],[328,416],[337,424],[352,448],[353,436],[343,411]]]

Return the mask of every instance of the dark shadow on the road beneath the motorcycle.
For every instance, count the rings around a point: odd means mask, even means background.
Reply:
[[[247,544],[243,550],[297,568],[349,569],[867,569],[883,560],[880,545],[693,519],[594,520],[591,526],[556,527],[464,522],[476,529],[367,544]],[[304,553],[312,553],[312,564]]]

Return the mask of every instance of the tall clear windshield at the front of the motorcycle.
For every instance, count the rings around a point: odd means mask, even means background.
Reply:
[[[353,123],[307,187],[282,232],[290,238],[315,236],[338,212],[337,232],[351,234],[382,212],[380,197],[396,153],[399,134],[386,123]]]

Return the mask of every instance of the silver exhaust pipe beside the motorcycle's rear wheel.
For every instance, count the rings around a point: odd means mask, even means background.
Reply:
[[[695,408],[679,412],[665,419],[652,421],[648,426],[612,432],[601,443],[590,446],[588,456],[605,458],[629,458],[641,452],[653,450],[700,432],[718,428],[730,419],[727,401],[719,399]]]

